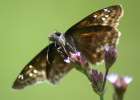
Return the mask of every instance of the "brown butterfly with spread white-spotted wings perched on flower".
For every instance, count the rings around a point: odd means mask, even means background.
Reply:
[[[109,6],[93,12],[64,34],[52,34],[49,37],[52,43],[23,68],[12,87],[23,89],[45,80],[57,83],[74,68],[74,63],[68,59],[71,53],[80,52],[92,64],[101,62],[106,45],[116,48],[120,37],[117,26],[122,16],[120,5]]]

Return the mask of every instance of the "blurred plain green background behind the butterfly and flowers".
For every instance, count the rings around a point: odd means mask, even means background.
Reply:
[[[0,100],[98,100],[87,78],[75,70],[56,86],[43,83],[21,91],[11,86],[24,65],[49,44],[51,33],[65,32],[90,13],[114,4],[123,5],[124,17],[119,25],[119,58],[111,72],[133,77],[125,100],[140,98],[140,1],[0,0]],[[109,83],[106,92],[105,100],[111,100]]]

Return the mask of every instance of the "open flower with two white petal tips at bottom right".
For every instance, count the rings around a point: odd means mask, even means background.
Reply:
[[[132,82],[132,78],[129,76],[119,76],[117,74],[110,74],[107,76],[109,82],[114,86],[117,96],[122,96],[127,90],[128,84]]]

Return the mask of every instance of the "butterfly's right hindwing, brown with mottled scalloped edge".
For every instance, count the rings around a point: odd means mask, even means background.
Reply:
[[[115,47],[119,38],[119,32],[109,26],[85,27],[73,31],[72,34],[78,51],[93,64],[102,61],[104,47],[106,45]]]

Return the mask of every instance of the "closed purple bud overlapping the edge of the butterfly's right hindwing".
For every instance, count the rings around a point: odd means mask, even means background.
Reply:
[[[117,49],[113,46],[105,46],[104,60],[106,68],[110,68],[116,61],[116,58]]]

